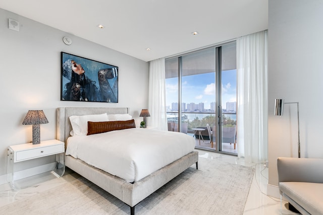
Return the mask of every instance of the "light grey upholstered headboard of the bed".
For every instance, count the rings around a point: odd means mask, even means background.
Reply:
[[[88,114],[124,114],[129,113],[129,108],[112,107],[59,107],[57,108],[57,139],[66,142],[70,136],[72,125],[70,116],[82,116]]]

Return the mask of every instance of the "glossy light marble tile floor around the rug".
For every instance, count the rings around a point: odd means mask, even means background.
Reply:
[[[295,214],[287,210],[280,199],[266,195],[268,169],[263,164],[246,164],[244,159],[238,159],[235,156],[223,155],[219,153],[197,150],[199,156],[205,159],[217,159],[237,165],[254,166],[255,175],[249,190],[246,201],[244,215],[273,215],[273,214]],[[68,169],[69,170],[69,169]],[[80,177],[78,174],[69,170],[61,178],[56,178],[52,174],[44,173],[27,179],[19,180],[21,189],[14,190],[9,183],[0,185],[0,214],[1,207],[11,202],[28,198],[31,195],[45,190],[60,186],[64,183]]]

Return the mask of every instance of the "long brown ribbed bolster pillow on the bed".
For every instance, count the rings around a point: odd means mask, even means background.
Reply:
[[[135,120],[127,121],[106,121],[106,122],[87,122],[87,135],[95,133],[103,133],[113,130],[122,130],[127,128],[135,128]]]

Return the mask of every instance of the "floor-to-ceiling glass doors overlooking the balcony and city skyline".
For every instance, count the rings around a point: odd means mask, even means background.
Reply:
[[[165,68],[169,130],[194,135],[197,148],[236,153],[235,43],[168,58]]]

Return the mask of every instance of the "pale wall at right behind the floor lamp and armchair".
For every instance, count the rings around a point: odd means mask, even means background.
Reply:
[[[297,111],[274,116],[276,98],[299,102],[301,157],[323,158],[323,2],[268,2],[268,184],[278,186],[277,158],[297,157]]]

